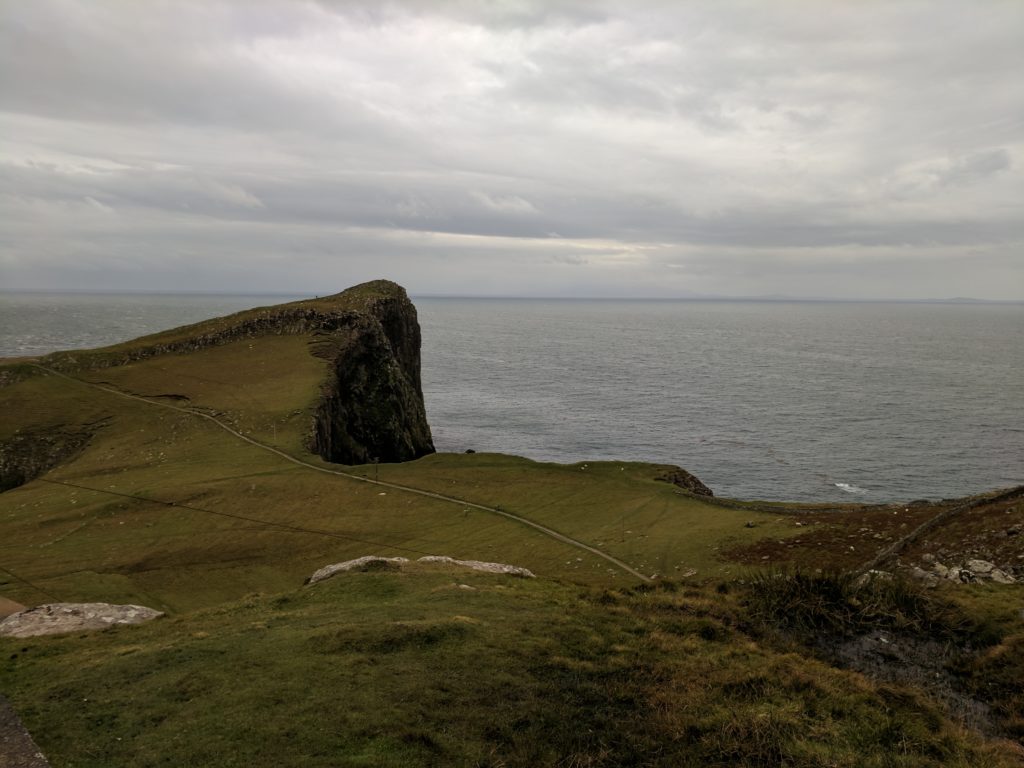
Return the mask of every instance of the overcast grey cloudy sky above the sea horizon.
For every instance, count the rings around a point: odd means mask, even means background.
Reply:
[[[1024,3],[0,0],[0,290],[1024,299]]]

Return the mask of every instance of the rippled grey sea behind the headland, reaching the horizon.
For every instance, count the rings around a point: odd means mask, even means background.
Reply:
[[[0,356],[296,298],[0,294]],[[1021,304],[414,301],[438,451],[674,464],[767,501],[1024,483]]]

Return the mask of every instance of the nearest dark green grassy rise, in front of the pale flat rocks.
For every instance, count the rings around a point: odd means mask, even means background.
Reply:
[[[6,640],[55,765],[1010,766],[923,694],[766,640],[738,594],[412,566]]]

